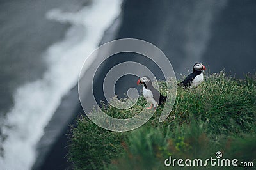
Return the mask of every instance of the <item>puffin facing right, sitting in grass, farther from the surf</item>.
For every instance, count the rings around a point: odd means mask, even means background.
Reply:
[[[205,66],[202,63],[195,63],[193,66],[193,73],[189,74],[184,81],[178,85],[183,87],[196,87],[204,81]]]

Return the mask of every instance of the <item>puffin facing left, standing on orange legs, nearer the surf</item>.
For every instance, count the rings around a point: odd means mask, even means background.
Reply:
[[[163,105],[166,102],[166,96],[161,95],[157,89],[155,89],[152,85],[152,82],[149,77],[144,76],[138,79],[137,84],[143,84],[143,97],[150,102],[151,106],[147,107],[147,109],[156,109],[158,105]]]

